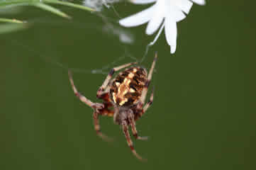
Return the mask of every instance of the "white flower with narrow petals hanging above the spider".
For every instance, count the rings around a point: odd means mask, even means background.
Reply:
[[[177,41],[177,22],[186,18],[184,13],[189,13],[193,2],[199,5],[204,5],[204,0],[130,0],[133,4],[149,4],[155,2],[150,8],[145,9],[133,16],[123,18],[119,21],[121,26],[133,27],[140,26],[143,23],[148,23],[146,34],[152,35],[160,28],[155,40],[150,45],[153,45],[163,28],[165,27],[165,37],[168,45],[171,47],[171,53],[176,50]]]

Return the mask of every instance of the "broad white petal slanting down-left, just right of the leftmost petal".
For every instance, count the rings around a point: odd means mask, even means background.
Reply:
[[[160,27],[162,21],[165,17],[165,4],[156,3],[155,13],[150,19],[148,26],[146,28],[146,34],[152,35]]]

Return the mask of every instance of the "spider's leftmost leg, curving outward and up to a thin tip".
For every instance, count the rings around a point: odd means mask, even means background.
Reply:
[[[76,86],[74,86],[74,81],[72,79],[72,73],[69,71],[68,74],[69,74],[69,81],[70,81],[70,84],[71,84],[72,89],[74,91],[74,94],[75,94],[75,96],[77,96],[80,99],[80,101],[82,101],[83,103],[87,104],[91,108],[103,108],[104,107],[103,104],[101,104],[101,103],[94,103],[94,102],[90,101],[88,98],[84,97],[82,94],[80,94],[77,91]]]

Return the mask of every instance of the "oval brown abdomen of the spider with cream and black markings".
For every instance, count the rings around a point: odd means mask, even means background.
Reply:
[[[111,100],[118,106],[131,106],[140,99],[147,80],[142,67],[130,67],[119,73],[111,84]]]

